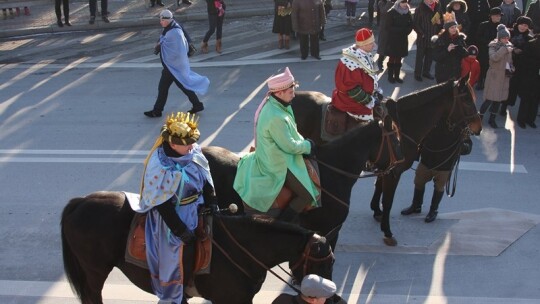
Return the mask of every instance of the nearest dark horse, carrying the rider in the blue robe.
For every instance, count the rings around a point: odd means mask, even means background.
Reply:
[[[152,293],[149,271],[124,258],[133,216],[122,192],[96,192],[74,198],[64,208],[64,270],[83,304],[103,303],[101,291],[113,267],[137,287]],[[309,273],[331,278],[332,248],[313,231],[257,217],[215,215],[213,235],[216,246],[211,272],[193,277],[200,295],[212,303],[252,303],[267,269],[282,262],[295,265],[298,281]],[[185,248],[184,265],[189,265],[186,258],[192,258],[193,251],[193,246]],[[186,270],[186,281],[190,276]]]

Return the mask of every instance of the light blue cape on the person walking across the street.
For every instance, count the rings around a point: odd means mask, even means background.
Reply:
[[[161,61],[180,83],[197,94],[206,94],[210,85],[207,77],[193,72],[189,67],[189,44],[184,32],[173,20],[170,30],[159,37]]]

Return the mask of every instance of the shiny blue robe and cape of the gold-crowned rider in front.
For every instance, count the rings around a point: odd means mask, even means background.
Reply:
[[[152,288],[162,300],[182,302],[184,244],[179,237],[170,232],[158,210],[153,207],[173,196],[178,201],[178,198],[202,193],[206,181],[213,185],[208,161],[197,144],[193,145],[190,154],[178,158],[167,157],[163,148],[159,147],[148,161],[143,180],[141,208],[136,211],[148,211],[146,256],[152,276]],[[176,204],[176,213],[186,224],[187,229],[194,230],[197,227],[197,210],[202,204],[204,204],[202,195],[189,204]]]

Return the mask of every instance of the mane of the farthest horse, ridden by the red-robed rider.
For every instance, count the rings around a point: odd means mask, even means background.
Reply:
[[[439,102],[439,97],[454,87],[454,81],[449,80],[420,91],[414,91],[398,98],[397,107],[401,111],[409,111],[429,102]]]

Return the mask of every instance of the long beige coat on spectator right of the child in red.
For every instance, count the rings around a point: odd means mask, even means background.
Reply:
[[[509,46],[512,44],[509,43]],[[489,44],[489,69],[484,83],[484,99],[504,101],[508,98],[510,77],[506,76],[506,64],[513,65],[512,52],[507,45],[495,39]]]

